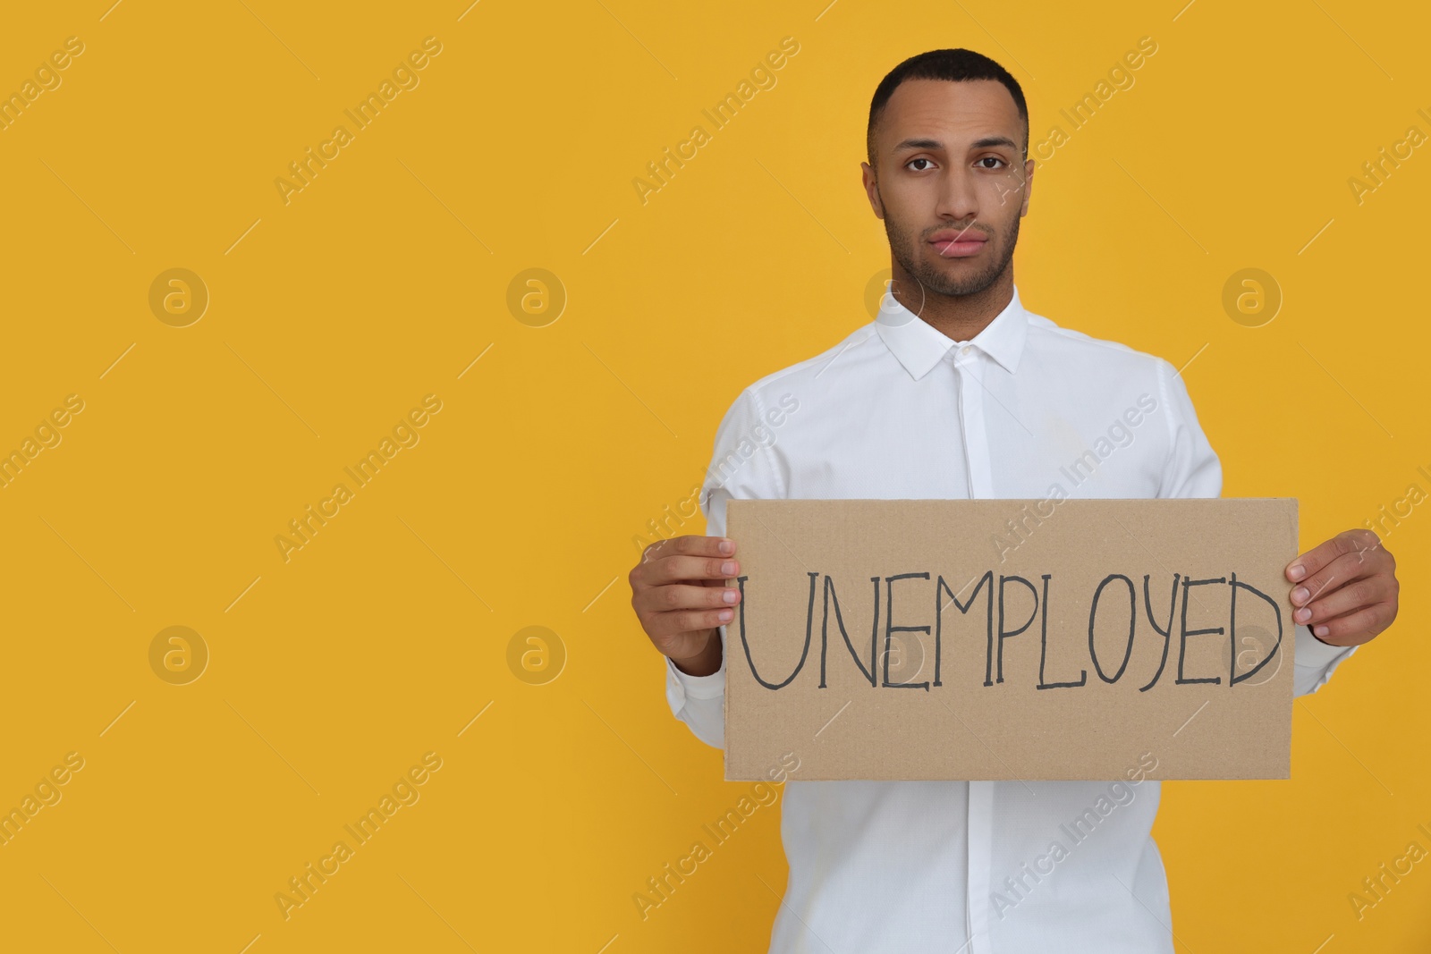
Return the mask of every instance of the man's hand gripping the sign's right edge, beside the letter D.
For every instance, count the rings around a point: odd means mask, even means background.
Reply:
[[[1397,618],[1397,559],[1368,529],[1342,531],[1286,565],[1292,622],[1334,646],[1368,642]]]

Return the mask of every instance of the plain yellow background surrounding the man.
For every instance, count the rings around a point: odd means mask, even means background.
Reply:
[[[1033,140],[1069,133],[1023,300],[1196,355],[1225,495],[1299,498],[1308,548],[1431,489],[1431,156],[1348,186],[1431,132],[1420,4],[109,3],[0,31],[0,92],[84,44],[0,132],[0,449],[84,400],[0,489],[0,807],[84,758],[0,847],[7,950],[764,951],[773,810],[633,904],[748,784],[671,718],[625,574],[738,390],[870,320],[866,113],[926,49],[993,56]],[[275,179],[428,36],[419,86],[285,205]],[[786,36],[777,86],[643,205],[645,164]],[[187,328],[149,308],[170,267],[210,295]],[[544,328],[507,306],[531,267],[568,296]],[[1261,328],[1221,305],[1244,267],[1285,295]],[[288,521],[428,393],[421,442],[285,562]],[[1401,618],[1296,704],[1291,781],[1165,787],[1181,953],[1431,945],[1431,861],[1359,921],[1347,900],[1431,848],[1428,533],[1418,509],[1387,538]],[[212,654],[187,685],[149,665],[173,625]],[[567,651],[545,685],[507,662],[529,625]],[[273,895],[429,751],[421,800],[285,920]]]

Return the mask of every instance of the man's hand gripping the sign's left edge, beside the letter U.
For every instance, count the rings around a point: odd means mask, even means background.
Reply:
[[[726,581],[740,572],[736,541],[724,536],[673,536],[641,552],[631,571],[631,608],[651,644],[681,672],[720,669],[717,626],[736,616],[740,591]]]

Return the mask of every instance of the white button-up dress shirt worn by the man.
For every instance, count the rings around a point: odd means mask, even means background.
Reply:
[[[721,536],[731,498],[1042,501],[1055,485],[1068,498],[1221,496],[1222,466],[1166,360],[1059,328],[1017,289],[969,342],[886,293],[876,320],[740,393],[716,432],[701,511]],[[1295,634],[1304,695],[1354,648]],[[726,664],[693,677],[667,659],[665,671],[675,717],[723,747]],[[1149,834],[1159,782],[1129,769],[1116,788],[794,771],[771,954],[1172,954]],[[1090,808],[1096,825],[1069,827]]]

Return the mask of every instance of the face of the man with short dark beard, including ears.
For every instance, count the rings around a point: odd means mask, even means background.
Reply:
[[[1009,90],[995,80],[906,80],[874,144],[877,169],[860,167],[894,262],[940,295],[992,286],[1013,259],[1033,177]]]

